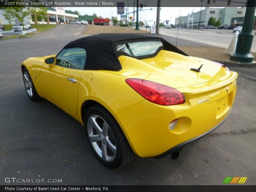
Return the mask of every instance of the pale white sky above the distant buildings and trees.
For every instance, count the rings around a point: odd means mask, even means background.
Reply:
[[[146,10],[150,8],[152,8],[152,10]],[[113,16],[117,16],[116,7],[67,7],[66,9],[78,11],[81,15],[92,15],[93,13],[96,13],[98,16],[102,16],[103,18],[111,18],[112,14]],[[197,12],[200,11],[200,9],[201,7],[162,7],[160,12],[160,20],[170,20],[171,24],[174,24],[175,18],[179,17],[179,15],[185,16],[188,15],[188,13],[191,13],[193,10],[194,12]],[[133,8],[129,7],[129,12],[132,11]],[[129,17],[130,16],[133,17],[133,13],[129,14]],[[139,18],[142,21],[156,20],[156,7],[144,7],[142,11],[139,11]],[[120,20],[120,15],[118,15],[118,20]]]

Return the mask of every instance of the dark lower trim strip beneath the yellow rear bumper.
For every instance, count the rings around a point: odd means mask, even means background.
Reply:
[[[231,109],[232,109],[232,108],[231,108]],[[212,129],[210,129],[209,131],[207,131],[207,132],[205,132],[205,133],[203,133],[203,134],[201,134],[201,135],[198,135],[197,137],[194,137],[193,139],[190,139],[190,140],[187,140],[187,141],[185,141],[185,142],[183,142],[183,143],[180,143],[179,145],[176,145],[175,147],[169,149],[168,151],[165,151],[165,152],[162,153],[161,155],[154,156],[154,158],[160,159],[160,158],[163,158],[163,157],[165,157],[165,156],[172,155],[172,153],[174,153],[175,151],[181,150],[181,149],[182,149],[183,147],[185,147],[187,144],[189,144],[189,143],[191,143],[191,142],[193,142],[193,141],[195,141],[195,140],[198,140],[198,139],[204,137],[205,135],[209,134],[210,132],[214,131],[214,130],[217,129],[221,124],[223,124],[223,123],[226,121],[226,119],[227,119],[228,116],[230,115],[231,109],[230,109],[228,115],[227,115],[218,125],[216,125],[216,126],[213,127]]]

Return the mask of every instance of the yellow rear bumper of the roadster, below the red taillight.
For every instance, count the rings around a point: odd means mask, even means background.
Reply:
[[[185,103],[173,106],[143,100],[114,116],[135,154],[162,156],[212,132],[231,111],[236,97],[236,81],[232,79],[218,90],[189,97],[185,95]],[[178,123],[170,130],[169,124],[175,119]]]

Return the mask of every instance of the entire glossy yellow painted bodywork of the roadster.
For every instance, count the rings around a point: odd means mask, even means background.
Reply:
[[[133,151],[141,157],[160,155],[211,130],[227,116],[236,97],[236,72],[209,60],[174,52],[162,50],[156,57],[144,60],[120,56],[120,71],[48,65],[44,63],[48,57],[51,56],[28,58],[22,63],[38,94],[81,124],[83,103],[100,103],[116,118]],[[190,70],[202,64],[200,73]],[[77,82],[67,81],[68,77]],[[154,104],[126,84],[127,78],[176,88],[186,101],[173,106]],[[169,124],[175,119],[178,124],[170,130]]]

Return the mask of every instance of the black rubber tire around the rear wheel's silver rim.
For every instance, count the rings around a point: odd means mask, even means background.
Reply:
[[[113,134],[114,141],[116,144],[116,156],[113,157],[114,159],[111,162],[104,160],[101,156],[98,155],[98,153],[95,151],[92,145],[92,142],[89,139],[88,127],[90,126],[90,124],[88,126],[88,120],[93,115],[100,116],[109,125],[109,129]],[[109,168],[122,167],[125,164],[129,163],[135,156],[134,152],[132,151],[132,148],[130,147],[130,144],[128,143],[124,135],[124,132],[122,131],[119,124],[117,123],[116,119],[111,115],[111,113],[106,108],[104,108],[100,104],[93,105],[86,111],[85,117],[84,117],[84,128],[88,138],[88,142],[92,147],[92,151],[94,152],[95,156],[99,159],[99,161],[105,166]],[[94,142],[94,143],[97,143],[97,142]],[[99,142],[101,145],[101,141]]]

